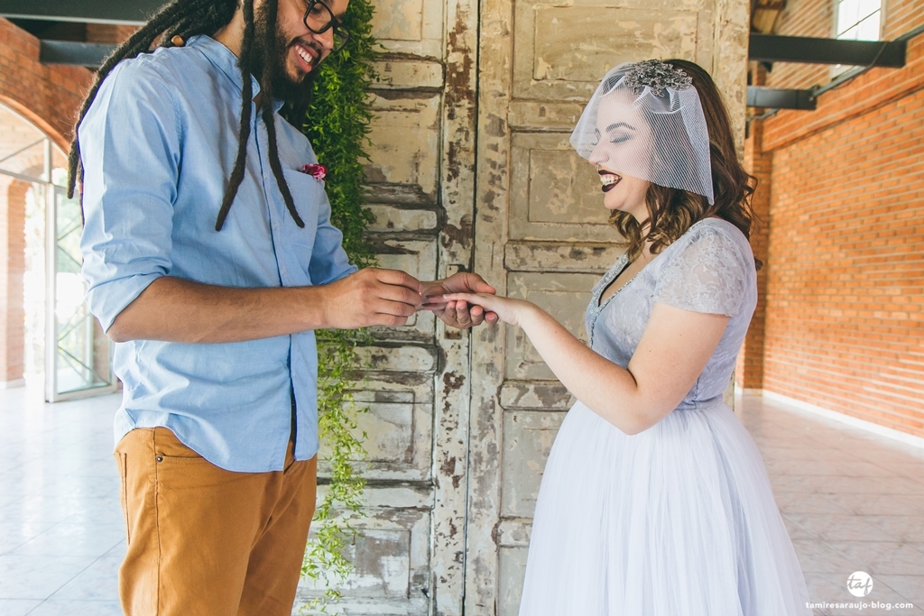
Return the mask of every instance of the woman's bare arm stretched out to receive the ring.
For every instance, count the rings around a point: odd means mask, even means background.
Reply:
[[[728,317],[656,303],[627,368],[591,350],[527,301],[453,294],[519,325],[545,363],[579,401],[626,434],[649,429],[673,411],[718,346]]]

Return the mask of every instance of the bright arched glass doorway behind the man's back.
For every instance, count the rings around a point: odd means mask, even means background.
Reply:
[[[116,387],[112,345],[84,303],[66,179],[64,151],[0,104],[0,382],[41,387],[48,402]]]

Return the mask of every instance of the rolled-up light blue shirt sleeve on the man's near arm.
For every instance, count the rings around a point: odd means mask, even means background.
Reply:
[[[103,81],[78,136],[87,303],[107,331],[171,269],[179,124],[172,86],[143,56]]]

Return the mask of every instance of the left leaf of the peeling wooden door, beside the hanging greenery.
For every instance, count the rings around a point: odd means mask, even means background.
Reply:
[[[382,0],[386,53],[372,91],[371,238],[382,267],[433,280],[471,267],[478,3]],[[373,332],[365,471],[368,517],[357,572],[332,607],[350,614],[462,613],[469,337],[430,313]],[[323,484],[325,469],[321,468]],[[323,489],[323,486],[322,486]],[[317,594],[303,585],[299,597]]]

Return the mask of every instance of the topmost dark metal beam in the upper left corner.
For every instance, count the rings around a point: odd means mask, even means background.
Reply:
[[[0,0],[0,17],[140,25],[166,0]]]

